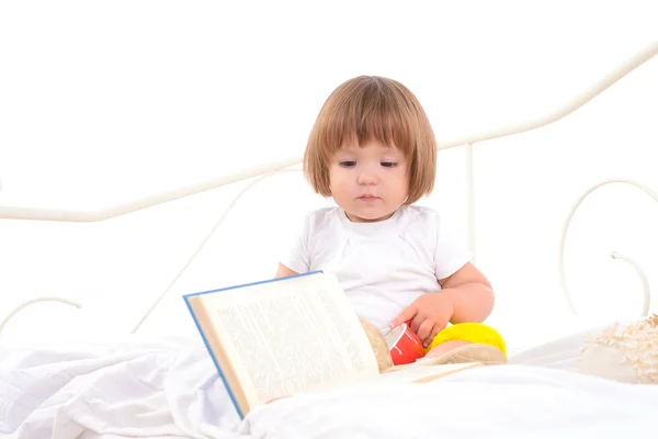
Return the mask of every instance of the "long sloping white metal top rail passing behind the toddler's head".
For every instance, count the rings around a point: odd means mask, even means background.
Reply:
[[[566,115],[578,110],[594,97],[602,93],[605,89],[619,81],[631,71],[648,61],[658,55],[658,41],[651,42],[645,48],[626,59],[616,68],[609,71],[598,81],[594,81],[585,91],[568,100],[557,110],[551,111],[538,117],[529,119],[518,124],[506,125],[496,130],[485,131],[476,134],[468,134],[464,137],[439,142],[439,149],[447,149],[466,144],[475,144],[494,138],[510,136],[513,134],[523,133],[526,131],[540,128],[556,122]],[[261,165],[241,171],[223,176],[219,178],[200,181],[190,185],[181,187],[170,191],[156,193],[149,196],[132,200],[114,206],[109,206],[97,212],[80,212],[80,211],[61,211],[33,207],[16,207],[16,206],[0,206],[0,218],[10,219],[32,219],[32,221],[56,221],[56,222],[98,222],[109,219],[120,215],[125,215],[131,212],[151,207],[158,204],[167,203],[184,196],[193,195],[200,192],[219,188],[222,185],[247,180],[252,177],[258,177],[271,171],[277,171],[290,166],[298,165],[302,161],[302,156],[292,156],[268,165]]]

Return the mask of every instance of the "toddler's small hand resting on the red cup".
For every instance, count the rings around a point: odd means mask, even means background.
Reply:
[[[447,326],[454,309],[455,305],[450,295],[441,292],[423,294],[407,306],[390,323],[390,327],[409,322],[409,327],[427,348],[436,334]]]

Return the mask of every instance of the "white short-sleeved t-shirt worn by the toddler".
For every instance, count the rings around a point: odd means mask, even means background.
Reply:
[[[468,262],[461,241],[430,207],[401,206],[377,223],[353,223],[340,207],[326,207],[306,215],[281,263],[336,273],[356,314],[383,329]]]

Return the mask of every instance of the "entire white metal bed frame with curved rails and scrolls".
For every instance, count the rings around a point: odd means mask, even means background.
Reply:
[[[576,97],[568,100],[561,106],[549,111],[538,117],[532,117],[525,121],[522,121],[517,124],[506,125],[496,130],[485,131],[479,133],[469,134],[463,137],[449,139],[445,142],[439,142],[439,149],[447,149],[454,147],[464,147],[466,148],[466,162],[465,162],[465,178],[467,183],[467,221],[468,221],[468,239],[469,247],[472,250],[472,255],[475,255],[475,194],[474,194],[474,168],[473,168],[473,145],[476,143],[487,142],[499,137],[506,137],[532,130],[536,130],[543,127],[545,125],[549,125],[554,122],[557,122],[565,117],[566,115],[572,113],[578,110],[593,98],[602,93],[604,90],[610,88],[616,81],[627,76],[631,71],[635,70],[649,59],[658,56],[658,41],[651,42],[642,50],[638,50],[636,54],[631,56],[624,63],[620,64],[616,68],[609,71],[599,80],[594,81],[589,88],[577,94]],[[95,212],[83,212],[83,211],[64,211],[64,210],[47,210],[47,209],[38,209],[38,207],[18,207],[18,206],[0,206],[0,219],[25,219],[25,221],[47,221],[47,222],[78,222],[78,223],[89,223],[89,222],[100,222],[109,218],[114,218],[116,216],[125,215],[132,212],[136,212],[143,209],[152,207],[162,203],[167,203],[170,201],[179,200],[182,198],[186,198],[190,195],[194,195],[201,192],[209,191],[213,189],[217,189],[224,185],[228,185],[231,183],[237,183],[240,181],[245,181],[250,178],[258,177],[253,180],[249,185],[247,185],[229,204],[229,206],[224,211],[222,216],[215,223],[211,233],[202,240],[196,250],[191,255],[189,260],[182,267],[182,269],[178,272],[178,274],[173,278],[169,286],[152,302],[151,306],[148,311],[141,316],[139,322],[134,326],[132,334],[139,330],[141,325],[146,322],[146,319],[151,315],[151,313],[156,309],[156,307],[160,304],[160,302],[167,296],[167,294],[171,291],[172,286],[180,279],[180,277],[185,272],[188,267],[192,263],[192,261],[196,258],[196,256],[201,252],[201,250],[205,247],[209,238],[214,235],[217,227],[222,224],[226,215],[231,211],[237,201],[254,184],[261,182],[262,180],[272,177],[274,175],[279,175],[282,172],[290,171],[300,171],[300,162],[302,156],[293,156],[279,161],[273,161],[268,165],[257,166],[248,169],[243,169],[238,172],[234,172],[227,176],[217,177],[209,180],[198,181],[193,184],[184,185],[178,189],[173,189],[166,192],[156,193],[149,196],[139,198],[135,200],[129,200],[124,203],[120,203],[113,206],[109,206],[105,209],[101,209]],[[569,230],[569,225],[571,224],[571,219],[576,214],[576,211],[580,206],[580,204],[595,190],[603,185],[613,184],[613,183],[626,183],[631,184],[637,189],[644,191],[647,195],[654,199],[654,201],[658,202],[658,193],[651,190],[646,184],[643,184],[639,181],[628,180],[628,179],[608,179],[603,180],[590,189],[588,189],[572,205],[565,223],[563,225],[563,233],[559,244],[559,278],[563,288],[563,293],[565,300],[570,308],[570,311],[578,315],[578,309],[576,308],[571,295],[568,289],[566,274],[565,274],[565,264],[564,264],[564,255],[565,255],[565,244]],[[1,190],[1,181],[0,181],[0,190]],[[642,308],[642,315],[646,316],[649,312],[650,306],[650,289],[647,275],[643,271],[642,267],[631,257],[621,255],[616,251],[612,251],[610,257],[613,259],[620,259],[629,263],[636,271],[637,275],[640,278],[643,292],[644,292],[644,302]],[[71,305],[75,307],[81,307],[81,304],[66,297],[59,296],[43,296],[29,300],[19,306],[16,306],[3,320],[0,323],[0,335],[2,334],[2,329],[9,324],[9,322],[22,309],[39,302],[59,302],[67,305]]]

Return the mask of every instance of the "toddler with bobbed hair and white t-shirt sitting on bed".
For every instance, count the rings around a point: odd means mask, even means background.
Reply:
[[[494,307],[487,278],[439,212],[413,204],[435,172],[434,133],[411,91],[373,76],[342,83],[304,156],[314,191],[337,206],[306,215],[276,277],[336,273],[360,318],[381,330],[409,322],[438,362],[507,362],[502,337],[481,324]]]

